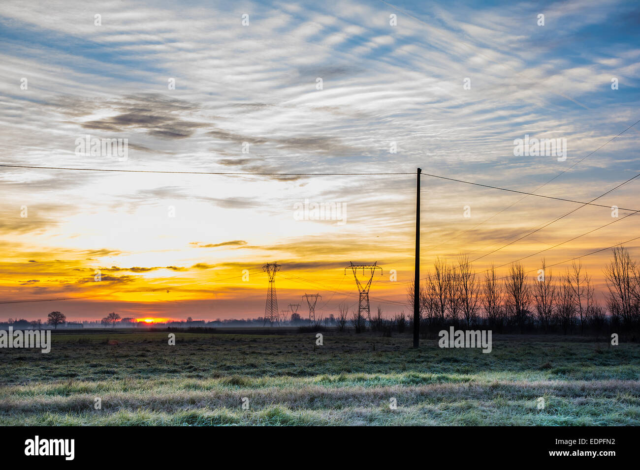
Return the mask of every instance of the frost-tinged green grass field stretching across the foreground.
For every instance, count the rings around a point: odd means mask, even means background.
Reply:
[[[436,339],[413,350],[408,336],[177,333],[170,346],[118,330],[52,342],[0,350],[0,425],[640,424],[637,343],[494,336],[483,354]]]

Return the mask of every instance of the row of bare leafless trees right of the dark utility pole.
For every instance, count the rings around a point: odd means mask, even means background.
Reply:
[[[496,333],[636,331],[640,325],[639,265],[627,248],[616,247],[603,272],[607,292],[601,304],[581,261],[574,260],[556,275],[543,259],[534,276],[527,276],[516,262],[500,277],[493,265],[477,274],[467,255],[458,256],[453,263],[436,258],[433,270],[419,286],[420,322],[428,331],[445,325],[484,325]],[[412,310],[413,294],[412,283],[407,289]]]

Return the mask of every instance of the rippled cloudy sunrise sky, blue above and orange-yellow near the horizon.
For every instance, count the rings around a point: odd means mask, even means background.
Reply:
[[[639,4],[607,0],[5,0],[0,164],[412,174],[0,166],[0,320],[255,318],[273,262],[280,310],[357,308],[345,267],[378,262],[372,309],[408,313],[417,168],[584,202],[640,173],[639,26]],[[525,136],[566,159],[516,155]],[[422,276],[461,253],[559,275],[638,236],[611,206],[640,209],[639,180],[583,207],[424,175]],[[600,293],[609,258],[580,258]]]

